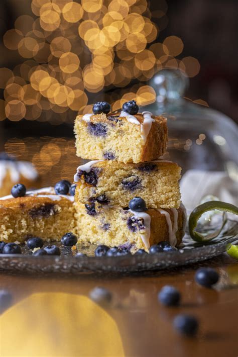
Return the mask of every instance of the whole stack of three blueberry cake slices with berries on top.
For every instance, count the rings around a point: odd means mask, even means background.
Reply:
[[[149,249],[160,241],[175,246],[184,234],[180,167],[165,153],[167,120],[138,113],[134,101],[121,114],[108,103],[75,121],[76,153],[88,163],[74,181],[79,242]],[[135,199],[136,198],[136,199]],[[130,208],[129,208],[130,207]]]

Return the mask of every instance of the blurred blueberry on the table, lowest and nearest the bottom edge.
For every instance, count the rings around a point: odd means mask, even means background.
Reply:
[[[191,315],[177,315],[173,321],[174,328],[185,335],[193,336],[198,330],[198,321]]]

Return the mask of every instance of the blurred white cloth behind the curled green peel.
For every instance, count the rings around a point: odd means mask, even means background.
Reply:
[[[188,170],[180,181],[181,200],[188,210],[199,205],[206,195],[238,205],[238,182],[224,171]]]

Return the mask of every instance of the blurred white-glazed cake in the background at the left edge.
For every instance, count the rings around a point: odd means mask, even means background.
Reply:
[[[5,152],[0,153],[0,197],[11,193],[13,185],[21,182],[27,187],[38,188],[40,177],[28,161],[17,161]]]

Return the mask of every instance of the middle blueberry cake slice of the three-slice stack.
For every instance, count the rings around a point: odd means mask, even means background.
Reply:
[[[127,207],[136,196],[150,208],[179,208],[181,168],[173,162],[156,160],[123,164],[89,161],[77,168],[75,201]]]

